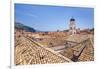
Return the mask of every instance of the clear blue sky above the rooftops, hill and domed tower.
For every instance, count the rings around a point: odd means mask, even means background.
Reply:
[[[63,31],[69,29],[69,21],[75,19],[76,28],[94,27],[94,9],[85,7],[15,4],[15,22],[38,31]]]

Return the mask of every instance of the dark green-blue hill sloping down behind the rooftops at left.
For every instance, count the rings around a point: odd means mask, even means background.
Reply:
[[[17,30],[25,30],[27,32],[36,32],[36,30],[34,28],[31,28],[29,26],[26,26],[22,23],[19,22],[15,22],[15,29]]]

